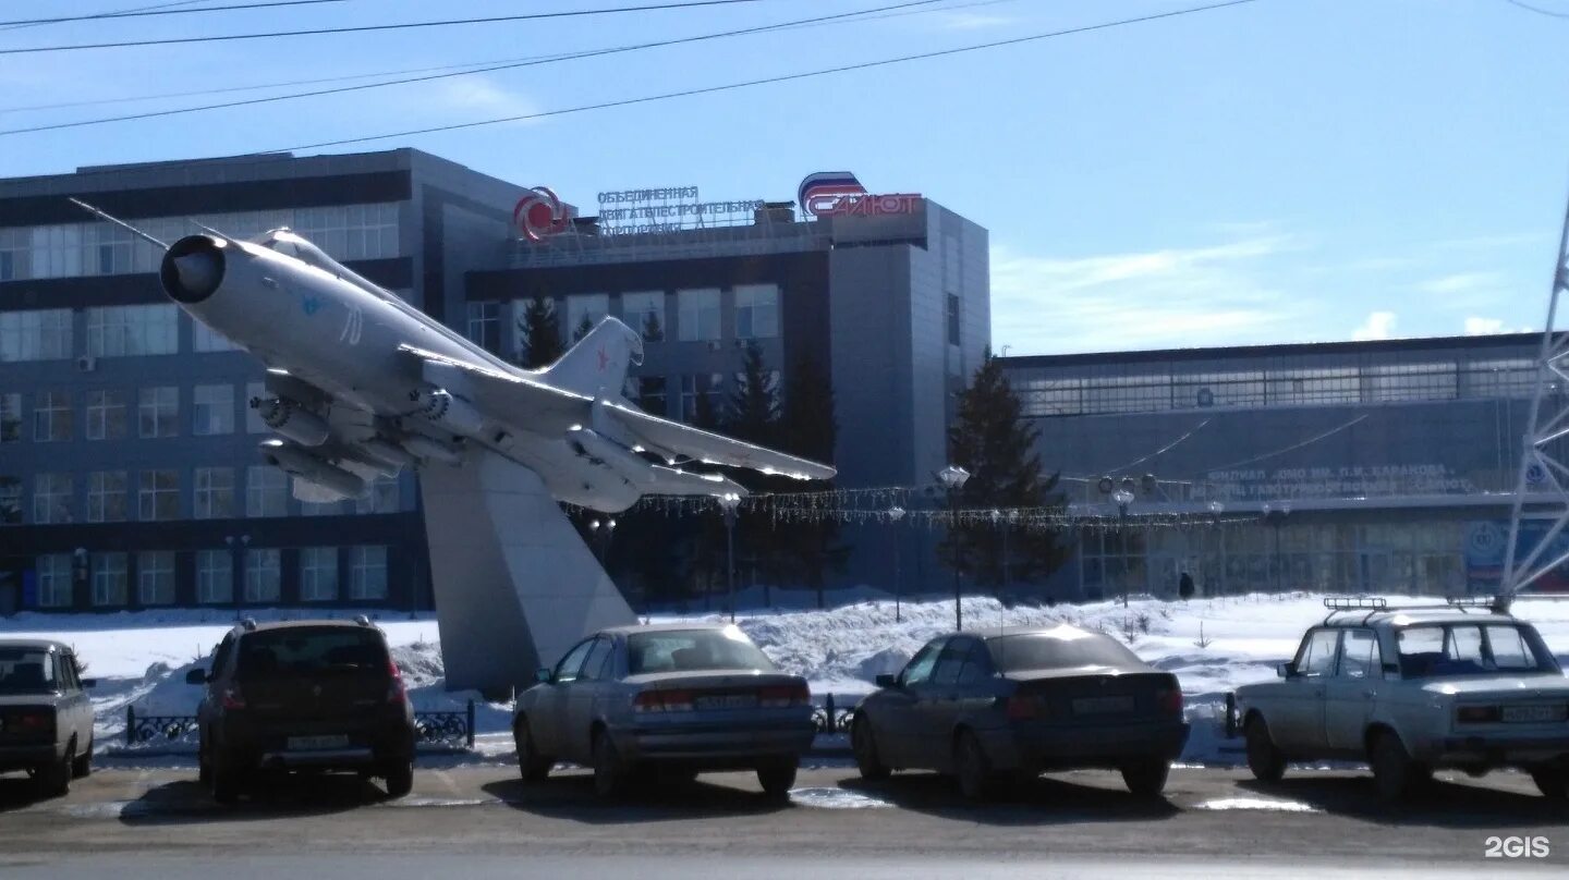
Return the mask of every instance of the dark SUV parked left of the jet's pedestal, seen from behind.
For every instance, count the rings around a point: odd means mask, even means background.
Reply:
[[[414,783],[414,711],[381,631],[366,618],[235,626],[196,711],[201,781],[234,802],[257,772],[356,770],[402,797]]]

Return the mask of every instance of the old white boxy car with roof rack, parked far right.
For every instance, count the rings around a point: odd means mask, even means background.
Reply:
[[[1326,599],[1282,681],[1236,690],[1247,765],[1359,759],[1396,800],[1432,775],[1519,767],[1541,792],[1569,784],[1569,679],[1536,629],[1484,607]]]

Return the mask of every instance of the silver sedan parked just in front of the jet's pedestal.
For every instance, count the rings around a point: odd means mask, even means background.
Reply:
[[[811,747],[811,695],[734,626],[620,626],[584,638],[518,696],[524,781],[557,761],[593,767],[601,795],[640,769],[695,776],[756,770],[784,797]]]

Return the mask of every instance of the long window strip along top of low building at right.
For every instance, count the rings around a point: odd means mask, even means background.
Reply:
[[[1014,367],[1009,373],[1025,416],[1530,397],[1538,378],[1530,359],[1097,376]]]

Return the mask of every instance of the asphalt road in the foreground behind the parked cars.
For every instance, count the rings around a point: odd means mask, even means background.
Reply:
[[[1545,836],[1542,860],[1484,858],[1489,836]],[[461,858],[461,871],[455,858]],[[1528,778],[1445,778],[1403,808],[1365,773],[1293,772],[1276,786],[1235,770],[1174,770],[1166,797],[1120,776],[1058,773],[1003,803],[951,781],[852,767],[800,773],[791,803],[744,773],[654,786],[601,803],[584,772],[524,786],[505,767],[422,769],[386,800],[353,776],[287,780],[234,808],[195,772],[100,769],[35,800],[0,778],[0,877],[1400,877],[1563,875],[1569,805]]]

